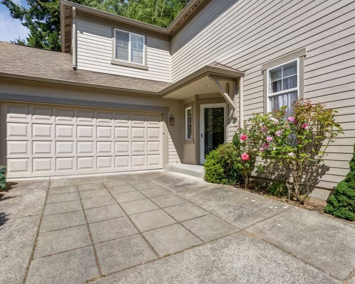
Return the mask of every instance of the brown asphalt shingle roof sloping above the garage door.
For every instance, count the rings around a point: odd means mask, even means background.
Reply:
[[[72,69],[71,55],[0,41],[0,76],[28,76],[72,85],[157,93],[171,83]],[[88,85],[88,86],[89,86]]]

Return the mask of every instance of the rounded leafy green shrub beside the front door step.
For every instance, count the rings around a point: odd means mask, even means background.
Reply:
[[[206,156],[205,180],[213,183],[240,183],[240,156],[233,143],[219,145]]]

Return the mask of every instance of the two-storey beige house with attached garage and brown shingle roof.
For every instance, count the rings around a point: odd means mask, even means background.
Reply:
[[[61,1],[62,52],[0,42],[8,178],[204,162],[253,113],[298,96],[338,110],[313,195],[355,142],[355,1],[190,0],[167,28]]]

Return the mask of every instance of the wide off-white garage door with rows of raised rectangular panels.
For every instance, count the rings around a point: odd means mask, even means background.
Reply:
[[[3,104],[7,177],[162,168],[162,114]]]

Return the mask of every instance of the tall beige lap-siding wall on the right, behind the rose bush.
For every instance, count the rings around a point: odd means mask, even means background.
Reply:
[[[355,142],[354,17],[354,0],[212,0],[172,39],[172,81],[213,61],[244,71],[247,120],[263,113],[262,65],[306,47],[304,98],[336,109],[345,132],[329,146],[317,184],[333,189]]]

